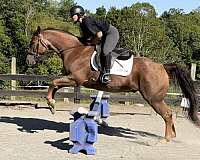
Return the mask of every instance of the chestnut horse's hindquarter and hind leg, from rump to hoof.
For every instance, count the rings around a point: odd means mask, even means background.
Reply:
[[[161,142],[170,141],[176,136],[172,110],[164,102],[169,88],[169,77],[160,64],[148,62],[143,63],[140,70],[140,93],[153,109],[164,119],[165,137]]]

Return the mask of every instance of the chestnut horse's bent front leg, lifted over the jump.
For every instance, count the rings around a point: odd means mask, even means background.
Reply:
[[[71,76],[64,76],[59,79],[54,79],[52,84],[49,85],[47,93],[47,104],[52,114],[55,114],[55,100],[54,96],[58,89],[62,87],[75,86],[76,82]]]

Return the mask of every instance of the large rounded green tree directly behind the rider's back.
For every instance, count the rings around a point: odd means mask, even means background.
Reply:
[[[119,47],[131,49],[137,56],[157,62],[180,61],[179,51],[166,36],[165,24],[156,17],[149,3],[136,3],[121,10],[111,8],[106,16],[120,33]]]

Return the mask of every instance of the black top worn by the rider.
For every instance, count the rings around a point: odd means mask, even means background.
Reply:
[[[97,21],[93,17],[84,17],[82,23],[80,23],[80,28],[85,40],[91,40],[99,31],[102,31],[105,36],[106,32],[109,30],[109,26],[110,25],[108,23],[104,21]]]

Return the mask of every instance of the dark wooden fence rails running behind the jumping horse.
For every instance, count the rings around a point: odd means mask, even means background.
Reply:
[[[45,81],[45,82],[51,82],[53,79],[59,78],[61,76],[41,76],[41,75],[8,75],[8,74],[0,74],[0,80],[3,81]],[[198,83],[199,84],[199,83]],[[42,86],[36,86],[38,88],[42,88]],[[44,86],[43,86],[44,87]],[[46,86],[47,87],[47,86]],[[12,88],[14,88],[12,86]],[[28,88],[28,87],[27,87]],[[33,86],[29,87],[29,89],[19,89],[15,88],[15,90],[10,89],[2,89],[0,91],[0,97],[11,97],[11,96],[26,96],[26,97],[46,97],[47,96],[47,88],[46,90],[30,90],[31,88],[34,88]],[[45,88],[45,87],[44,87]],[[83,88],[71,88],[71,91],[63,91],[60,90],[56,92],[55,98],[69,98],[74,99],[74,102],[79,102],[80,100],[90,100],[90,96],[97,93],[96,90],[87,90]],[[84,90],[84,92],[82,91]],[[109,94],[110,101],[113,102],[133,102],[133,103],[146,103],[142,96],[138,93],[105,93]],[[168,96],[165,98],[167,103],[173,104],[173,105],[180,105],[181,102],[181,94],[180,93],[168,93]]]

